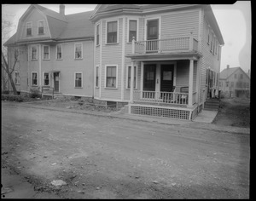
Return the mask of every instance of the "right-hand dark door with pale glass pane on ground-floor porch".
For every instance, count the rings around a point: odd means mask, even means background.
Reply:
[[[173,64],[161,65],[160,91],[173,91]]]

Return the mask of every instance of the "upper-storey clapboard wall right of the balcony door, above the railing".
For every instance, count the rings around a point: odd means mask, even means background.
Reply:
[[[173,12],[172,14],[161,15],[161,36],[168,37],[186,37],[193,32],[195,39],[198,39],[199,10],[186,12]]]

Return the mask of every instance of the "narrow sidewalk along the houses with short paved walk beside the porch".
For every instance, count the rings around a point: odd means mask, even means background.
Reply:
[[[221,132],[229,132],[229,133],[236,133],[236,134],[250,134],[249,128],[240,128],[240,127],[212,124],[213,119],[216,117],[218,113],[214,111],[203,111],[199,113],[199,115],[193,121],[189,121],[189,120],[174,119],[174,118],[147,117],[142,115],[134,115],[134,114],[121,113],[121,112],[107,113],[107,112],[67,109],[67,108],[55,107],[55,106],[36,106],[36,105],[33,105],[32,102],[19,103],[19,106],[40,108],[40,109],[46,109],[51,111],[74,112],[74,113],[80,113],[80,114],[94,115],[98,117],[122,118],[122,119],[133,120],[133,121],[179,125],[179,126],[184,126],[184,127],[194,128],[194,129],[207,129],[207,130],[214,129]]]

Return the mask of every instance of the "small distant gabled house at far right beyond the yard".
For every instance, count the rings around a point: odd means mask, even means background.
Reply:
[[[241,67],[227,65],[219,77],[219,89],[224,97],[249,97],[250,77]]]

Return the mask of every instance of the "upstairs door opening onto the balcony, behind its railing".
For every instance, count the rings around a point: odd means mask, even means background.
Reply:
[[[147,51],[158,51],[159,20],[148,20],[147,23]]]

